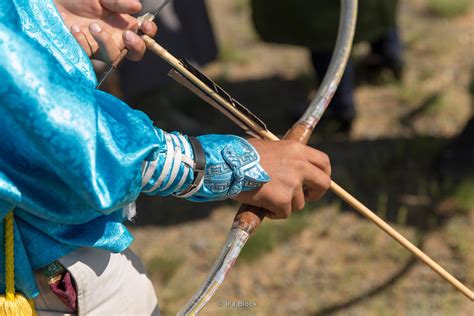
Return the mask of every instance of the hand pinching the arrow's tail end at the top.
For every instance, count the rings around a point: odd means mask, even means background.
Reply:
[[[54,0],[64,23],[87,55],[110,63],[123,48],[127,58],[138,61],[145,54],[145,42],[135,34],[138,20],[130,14],[141,10],[138,0]],[[156,24],[144,22],[141,30],[154,36]]]

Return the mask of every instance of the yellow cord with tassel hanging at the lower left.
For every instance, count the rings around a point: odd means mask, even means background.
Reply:
[[[13,211],[5,217],[5,295],[0,295],[0,316],[33,316],[33,301],[15,293],[15,248]]]

